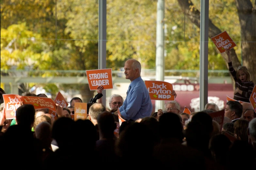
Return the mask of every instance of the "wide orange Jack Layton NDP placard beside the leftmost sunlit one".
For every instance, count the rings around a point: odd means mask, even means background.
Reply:
[[[21,99],[23,105],[31,104],[35,109],[48,108],[56,112],[56,104],[51,98],[33,96],[19,96],[19,98]]]

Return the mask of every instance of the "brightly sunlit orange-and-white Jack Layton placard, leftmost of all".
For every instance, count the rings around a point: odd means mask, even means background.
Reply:
[[[21,100],[17,94],[3,94],[6,119],[15,119],[16,110],[21,106]]]

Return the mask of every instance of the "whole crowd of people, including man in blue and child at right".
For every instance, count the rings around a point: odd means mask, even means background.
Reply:
[[[232,64],[229,66],[235,72]],[[17,108],[15,119],[6,120],[1,100],[1,167],[255,169],[256,113],[247,102],[252,89],[251,83],[245,86],[250,82],[246,70],[232,73],[236,77],[234,98],[244,102],[227,102],[222,128],[209,115],[219,110],[214,103],[187,114],[178,102],[168,101],[165,108],[152,113],[140,63],[127,60],[124,70],[126,79],[131,80],[125,100],[113,94],[107,111],[99,99],[89,107],[87,120],[72,119],[74,103],[82,103],[78,97],[72,98],[67,108],[56,105],[56,120],[49,109],[29,104]],[[99,86],[97,92],[103,90]],[[175,91],[172,95],[177,97]],[[125,120],[121,125],[118,108]]]

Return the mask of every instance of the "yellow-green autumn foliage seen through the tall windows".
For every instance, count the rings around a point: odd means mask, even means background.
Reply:
[[[56,2],[1,1],[1,69],[10,69],[11,65],[18,69],[30,65],[34,70],[98,68],[98,0]],[[200,0],[193,3],[191,10],[200,10]],[[235,50],[240,57],[241,35],[235,5],[234,0],[210,1],[209,18],[236,41]],[[143,68],[155,68],[156,12],[155,0],[107,1],[107,68],[118,70],[129,58],[141,61]],[[200,29],[184,16],[177,0],[165,1],[164,22],[165,69],[198,70]],[[227,69],[210,39],[208,61],[211,70]],[[53,75],[57,73],[40,74]]]

